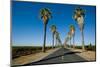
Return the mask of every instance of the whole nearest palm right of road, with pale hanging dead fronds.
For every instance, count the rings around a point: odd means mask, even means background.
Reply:
[[[84,17],[85,17],[85,10],[83,10],[80,7],[76,8],[75,11],[74,11],[73,18],[78,23],[80,31],[81,31],[82,49],[83,49],[83,51],[85,50],[85,47],[84,47],[84,33],[83,33]]]

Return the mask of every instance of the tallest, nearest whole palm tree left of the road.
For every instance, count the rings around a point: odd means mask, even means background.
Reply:
[[[47,24],[49,19],[51,18],[51,12],[48,8],[42,8],[40,10],[40,17],[43,20],[44,23],[44,42],[43,42],[43,47],[42,51],[45,52],[45,44],[46,44],[46,29],[47,29]]]

